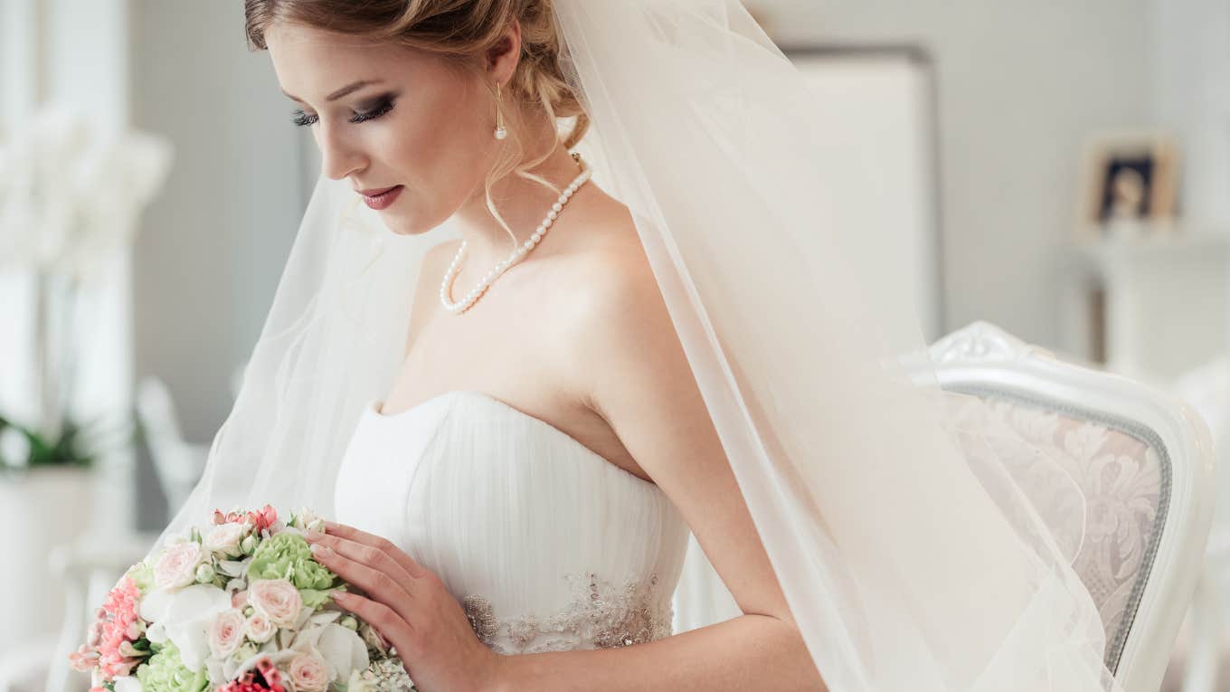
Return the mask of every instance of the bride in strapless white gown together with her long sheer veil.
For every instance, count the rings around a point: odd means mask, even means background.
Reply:
[[[245,5],[322,171],[167,534],[333,516],[424,692],[1112,687],[737,1]]]

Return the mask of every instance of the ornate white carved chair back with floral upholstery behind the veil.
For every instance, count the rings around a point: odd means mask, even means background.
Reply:
[[[1177,399],[1059,361],[989,323],[945,336],[930,355],[945,390],[986,401],[1080,485],[1086,518],[1074,526],[1082,536],[1073,568],[1106,628],[1106,666],[1124,692],[1155,692],[1212,521],[1203,420]]]

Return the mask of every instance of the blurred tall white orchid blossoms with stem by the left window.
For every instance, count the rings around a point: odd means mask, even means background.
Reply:
[[[21,129],[0,132],[0,271],[30,271],[37,278],[39,414],[25,427],[53,448],[66,449],[65,435],[79,430],[64,411],[73,395],[73,328],[81,296],[116,254],[132,245],[141,211],[170,165],[166,139],[95,127],[76,112],[54,107],[34,113]],[[6,456],[0,469],[87,461],[80,454]]]

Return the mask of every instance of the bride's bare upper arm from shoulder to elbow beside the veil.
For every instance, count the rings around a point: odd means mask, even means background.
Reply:
[[[791,619],[643,252],[587,287],[590,401],[667,494],[744,613]],[[593,367],[598,366],[598,367]]]

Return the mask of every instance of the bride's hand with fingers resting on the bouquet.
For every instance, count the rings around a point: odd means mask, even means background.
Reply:
[[[316,560],[369,597],[333,600],[379,632],[421,692],[485,692],[498,687],[501,656],[475,635],[440,579],[389,541],[326,522],[305,534]]]

